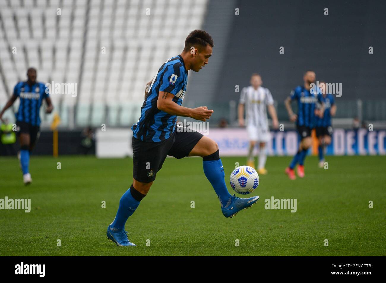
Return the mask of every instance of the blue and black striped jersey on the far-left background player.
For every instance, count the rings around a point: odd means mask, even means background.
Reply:
[[[42,82],[35,82],[33,85],[19,82],[15,85],[14,95],[20,98],[19,111],[15,114],[16,121],[39,126],[39,111],[43,99],[49,97],[48,87]]]

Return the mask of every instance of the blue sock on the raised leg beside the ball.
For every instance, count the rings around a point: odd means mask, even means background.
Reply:
[[[232,196],[228,192],[227,185],[225,184],[225,173],[221,159],[205,160],[206,157],[204,157],[202,161],[205,176],[207,177],[210,184],[212,184],[212,187],[215,190],[218,199],[220,200],[221,207],[227,207],[229,205],[229,199]]]

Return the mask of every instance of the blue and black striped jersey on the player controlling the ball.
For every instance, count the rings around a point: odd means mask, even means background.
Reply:
[[[141,108],[141,117],[131,127],[136,139],[146,142],[160,142],[168,139],[175,131],[176,115],[157,108],[160,91],[174,94],[173,101],[182,104],[188,82],[188,70],[183,58],[178,55],[168,59],[159,68],[151,83],[150,90]]]

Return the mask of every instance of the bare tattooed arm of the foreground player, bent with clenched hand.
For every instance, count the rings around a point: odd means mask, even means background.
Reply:
[[[157,108],[170,115],[181,117],[191,117],[196,120],[206,121],[212,116],[213,110],[209,110],[206,106],[197,108],[188,108],[178,105],[173,101],[174,94],[170,92],[160,91],[158,93]]]

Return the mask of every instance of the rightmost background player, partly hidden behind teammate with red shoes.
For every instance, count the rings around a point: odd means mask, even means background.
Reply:
[[[319,167],[324,167],[324,154],[326,147],[331,144],[331,136],[332,136],[332,124],[331,124],[331,116],[335,116],[337,111],[337,107],[334,101],[334,95],[327,94],[326,83],[319,82],[319,88],[322,92],[321,100],[324,105],[324,113],[323,118],[320,118],[321,115],[316,116],[316,136],[319,140]],[[321,104],[317,104],[318,108],[321,107]]]

